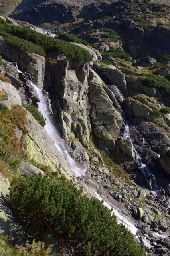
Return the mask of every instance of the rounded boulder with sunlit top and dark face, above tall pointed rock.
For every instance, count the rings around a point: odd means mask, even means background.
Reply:
[[[104,80],[107,80],[109,84],[116,85],[124,96],[127,95],[125,75],[120,70],[113,65],[101,66],[96,63],[94,66],[101,72],[101,76]]]

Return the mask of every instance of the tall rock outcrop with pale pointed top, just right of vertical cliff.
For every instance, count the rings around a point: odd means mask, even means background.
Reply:
[[[89,73],[89,103],[91,106],[91,124],[101,148],[108,147],[115,151],[115,141],[119,140],[120,128],[123,125],[121,114],[105,91],[105,84],[95,71]]]

